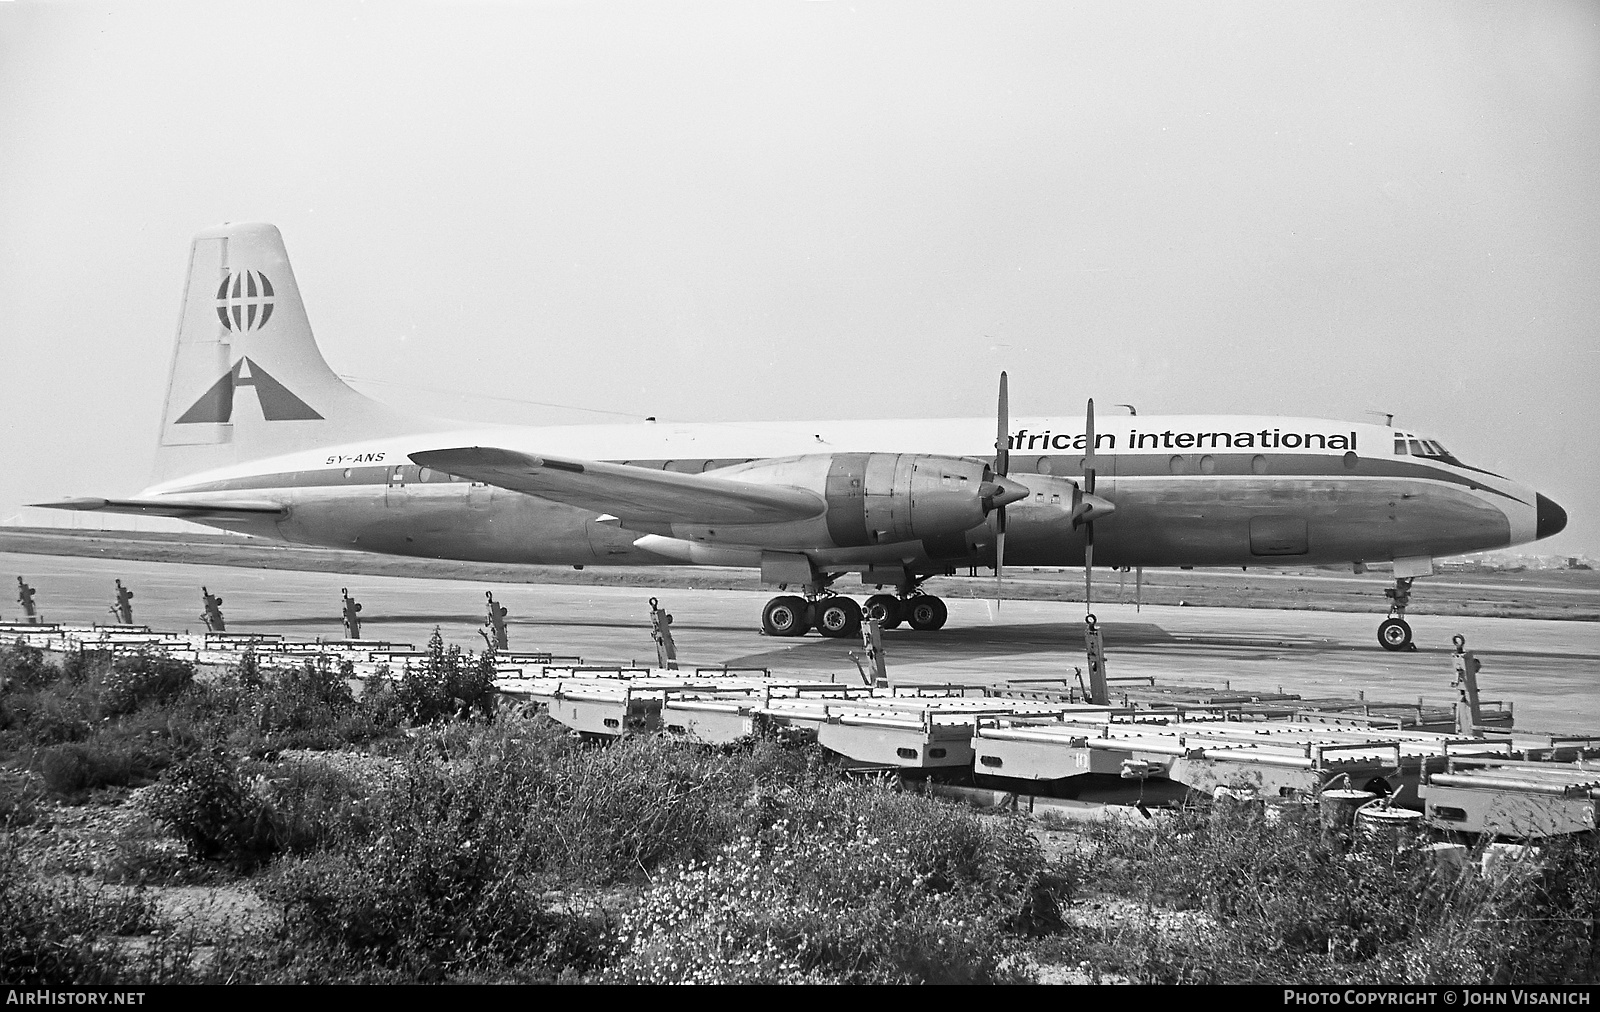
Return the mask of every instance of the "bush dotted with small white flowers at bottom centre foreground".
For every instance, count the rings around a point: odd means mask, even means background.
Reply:
[[[822,788],[651,886],[603,978],[1021,983],[1030,967],[1008,958],[1006,926],[1042,865],[1013,823],[877,785]]]

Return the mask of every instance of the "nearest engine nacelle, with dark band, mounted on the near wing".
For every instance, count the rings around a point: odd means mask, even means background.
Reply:
[[[805,525],[805,532],[786,524],[691,535],[766,548],[950,543],[984,524],[997,506],[1027,496],[1027,488],[995,479],[979,461],[922,453],[811,453],[755,461],[718,474],[744,482],[797,485],[827,501],[827,512]]]

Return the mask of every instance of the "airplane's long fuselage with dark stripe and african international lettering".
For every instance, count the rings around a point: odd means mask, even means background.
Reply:
[[[1115,514],[1096,524],[1096,565],[1386,562],[1502,548],[1536,536],[1534,490],[1474,468],[1397,452],[1405,440],[1384,426],[1262,416],[1107,421],[1096,440],[1098,495],[1115,503]],[[166,482],[147,495],[189,501],[248,495],[283,503],[283,519],[208,522],[328,548],[518,564],[755,565],[763,546],[738,532],[630,530],[590,509],[419,468],[410,453],[496,445],[738,477],[752,461],[822,455],[842,460],[882,455],[885,447],[899,455],[987,461],[994,455],[990,431],[987,420],[453,431],[222,468]],[[1029,496],[1008,508],[1006,562],[1082,565],[1083,533],[1069,516],[1072,482],[1083,472],[1082,423],[1019,420],[1011,444],[1010,474],[1029,488]],[[864,492],[872,495],[870,480]],[[840,511],[830,506],[832,514]],[[813,548],[805,554],[819,568],[869,564],[941,572],[994,562],[992,517],[960,543],[838,543],[838,532],[851,519],[818,520]],[[646,543],[670,543],[672,551],[640,548],[635,543],[643,535],[656,535]]]

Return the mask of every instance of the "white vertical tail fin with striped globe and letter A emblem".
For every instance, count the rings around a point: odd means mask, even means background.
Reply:
[[[155,482],[429,424],[363,397],[328,368],[275,226],[195,235]]]

